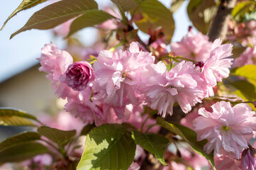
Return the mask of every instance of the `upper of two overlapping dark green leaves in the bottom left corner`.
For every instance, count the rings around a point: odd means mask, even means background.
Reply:
[[[37,132],[22,132],[18,135],[12,136],[4,140],[0,143],[0,151],[2,149],[6,149],[7,147],[11,147],[13,145],[17,145],[21,142],[40,140],[41,135]]]

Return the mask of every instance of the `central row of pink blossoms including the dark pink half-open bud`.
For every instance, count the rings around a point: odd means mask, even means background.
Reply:
[[[190,41],[206,40],[203,36],[196,35],[198,38]],[[184,49],[187,42],[182,40],[175,47]],[[188,113],[196,103],[213,96],[217,81],[228,77],[232,45],[221,45],[220,39],[207,45],[211,45],[211,52],[205,52],[203,66],[183,60],[169,71],[163,62],[155,63],[150,52],[141,51],[136,42],[129,50],[99,52],[93,66],[84,60],[73,63],[71,55],[54,44],[45,45],[38,60],[40,71],[48,73],[56,94],[67,98],[66,111],[85,123],[101,125],[128,120],[128,106],[136,110],[147,105],[164,117],[172,115],[175,102]]]

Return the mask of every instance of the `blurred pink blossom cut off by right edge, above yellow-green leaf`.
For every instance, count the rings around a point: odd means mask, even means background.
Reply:
[[[256,44],[255,44],[256,45]],[[246,50],[235,58],[233,67],[242,67],[247,64],[256,64],[256,46],[247,47]]]

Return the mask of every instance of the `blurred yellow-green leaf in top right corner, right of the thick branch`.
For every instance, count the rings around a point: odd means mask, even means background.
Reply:
[[[233,8],[232,16],[236,21],[244,21],[246,13],[255,9],[255,1],[241,1]]]

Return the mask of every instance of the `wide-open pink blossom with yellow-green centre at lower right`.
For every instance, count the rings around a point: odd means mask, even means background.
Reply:
[[[212,112],[199,109],[199,118],[194,120],[197,140],[207,139],[204,150],[214,154],[224,149],[228,154],[239,159],[240,147],[248,148],[247,142],[256,130],[255,112],[244,103],[232,107],[229,102],[221,101],[211,106]]]

